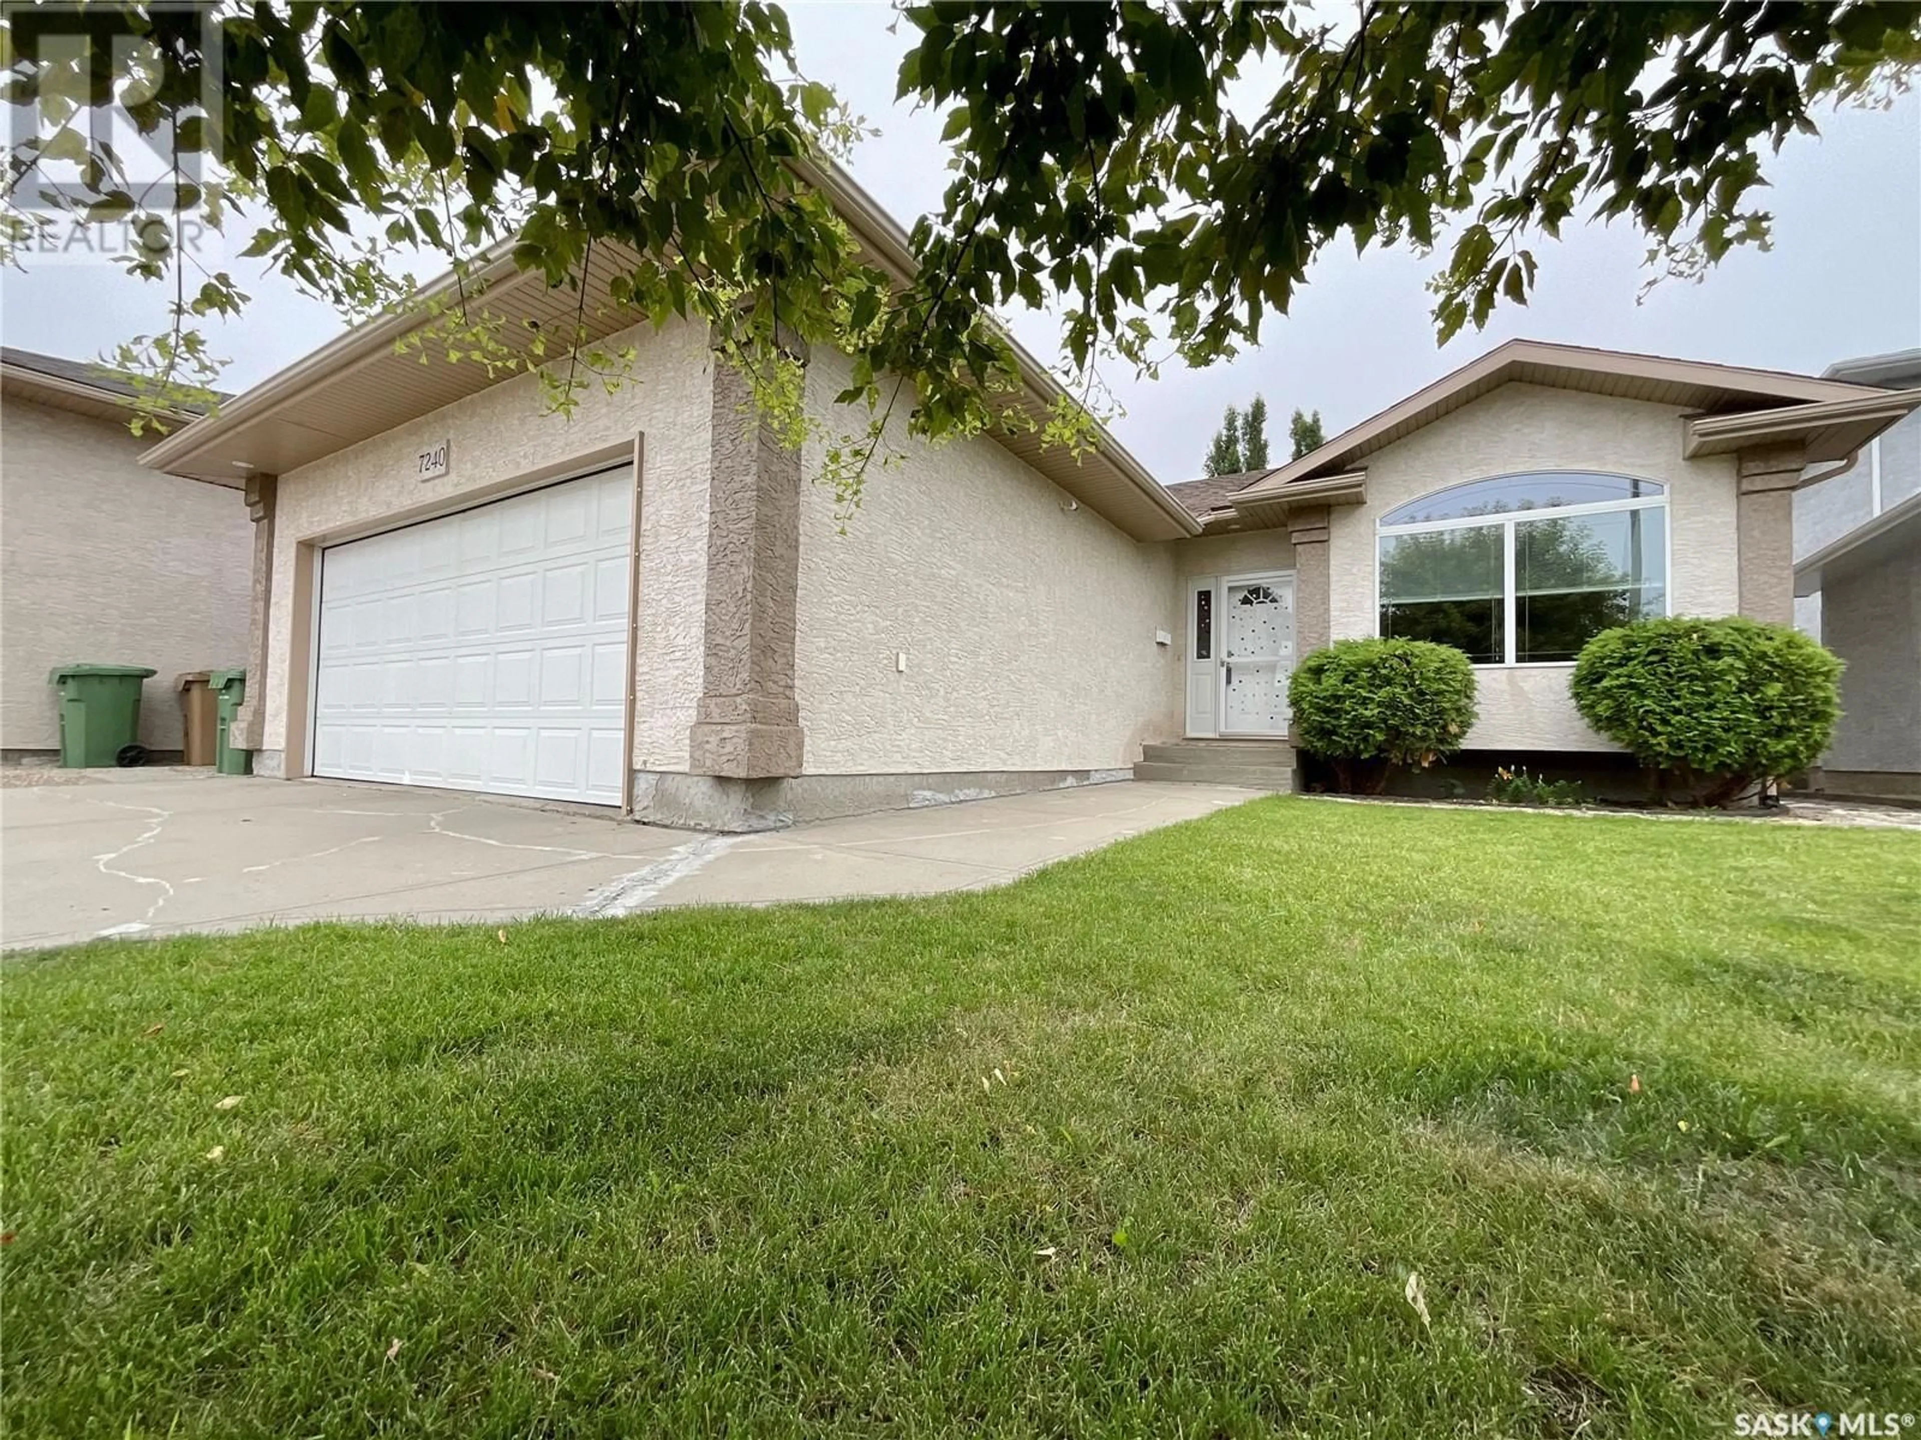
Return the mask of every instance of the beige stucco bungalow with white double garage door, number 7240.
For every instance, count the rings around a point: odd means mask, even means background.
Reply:
[[[820,182],[909,273],[905,232]],[[1106,434],[1080,459],[895,434],[905,465],[841,526],[809,484],[822,457],[745,432],[705,330],[599,305],[611,273],[582,313],[636,348],[634,378],[569,419],[536,376],[396,353],[396,315],[146,457],[248,476],[255,774],[715,829],[1128,774],[1285,783],[1295,657],[1383,622],[1485,664],[1475,747],[1606,749],[1568,699],[1579,639],[1627,614],[1787,618],[1806,467],[1921,401],[1508,344],[1235,488],[1160,486]],[[505,261],[480,280],[507,334],[580,305]],[[1060,390],[1020,359],[1043,415]],[[847,376],[809,355],[809,407],[834,420]]]

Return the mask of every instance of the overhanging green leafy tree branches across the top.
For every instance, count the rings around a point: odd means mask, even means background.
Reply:
[[[1765,240],[1765,152],[1823,104],[1885,102],[1921,58],[1921,6],[1867,0],[1368,4],[1341,25],[1264,4],[907,6],[920,40],[899,92],[949,111],[957,175],[903,280],[807,184],[805,157],[859,121],[793,73],[786,19],[759,0],[257,4],[211,31],[217,127],[196,111],[200,12],[119,6],[150,50],[102,65],[25,44],[36,13],[6,10],[6,98],[36,121],[10,152],[15,261],[48,169],[71,184],[42,205],[152,204],[77,123],[121,94],[177,154],[219,131],[211,219],[350,315],[405,303],[382,246],[457,269],[511,248],[553,286],[580,286],[599,253],[617,305],[705,321],[788,438],[818,424],[790,336],[847,351],[841,399],[870,417],[828,447],[849,495],[895,413],[928,438],[1032,422],[1001,397],[1014,359],[991,307],[1058,300],[1087,386],[1105,359],[1153,372],[1258,342],[1335,240],[1445,246],[1443,336],[1523,303],[1531,236],[1569,219],[1631,223],[1658,267],[1698,275]],[[1228,86],[1256,63],[1272,98],[1235,115]],[[134,267],[173,286],[173,326],[123,353],[163,405],[211,378],[200,326],[246,298],[165,242]],[[469,300],[432,317],[451,355],[536,365],[559,407],[594,371],[617,382],[619,355],[588,351],[584,328],[521,355]],[[1049,440],[1080,444],[1083,424],[1062,405]]]

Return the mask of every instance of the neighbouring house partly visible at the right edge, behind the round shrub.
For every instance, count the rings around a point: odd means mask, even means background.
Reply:
[[[1921,394],[1921,349],[1842,361],[1829,378]],[[1848,668],[1840,726],[1812,778],[1831,795],[1921,801],[1921,415],[1794,495],[1794,593]]]

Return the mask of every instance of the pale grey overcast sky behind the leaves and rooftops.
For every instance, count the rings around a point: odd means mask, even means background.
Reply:
[[[880,129],[853,156],[855,179],[903,225],[939,204],[947,182],[941,121],[893,106],[911,27],[889,35],[886,4],[790,6],[803,71],[834,84]],[[1527,309],[1496,309],[1485,332],[1435,346],[1425,280],[1437,259],[1410,252],[1329,253],[1293,315],[1270,321],[1258,351],[1208,371],[1164,367],[1155,382],[1110,374],[1126,413],[1114,432],[1162,480],[1201,472],[1222,407],[1264,394],[1285,444],[1293,407],[1320,409],[1327,434],[1354,424],[1512,336],[1687,359],[1819,372],[1836,359],[1921,346],[1921,96],[1888,111],[1821,119],[1767,165],[1775,246],[1739,252],[1700,284],[1664,280],[1637,303],[1646,242],[1627,227],[1569,227],[1539,242],[1541,284]],[[232,263],[254,305],[213,330],[232,359],[223,388],[242,390],[340,330],[284,280]],[[163,324],[158,286],[104,259],[35,259],[0,278],[10,346],[92,359]],[[1045,317],[1012,317],[1020,338],[1053,355]]]

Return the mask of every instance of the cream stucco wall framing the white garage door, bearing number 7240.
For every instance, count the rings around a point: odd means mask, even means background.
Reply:
[[[294,626],[294,555],[302,541],[344,540],[425,513],[507,493],[521,476],[645,436],[640,522],[638,701],[634,766],[686,770],[701,693],[707,593],[707,480],[713,357],[705,330],[636,326],[605,342],[634,346],[632,376],[605,394],[590,384],[571,417],[549,415],[540,378],[523,374],[386,434],[280,476],[275,520],[265,749],[284,749]],[[448,440],[451,470],[415,478],[415,455]],[[244,609],[244,605],[242,605]],[[242,618],[244,630],[244,618]]]

